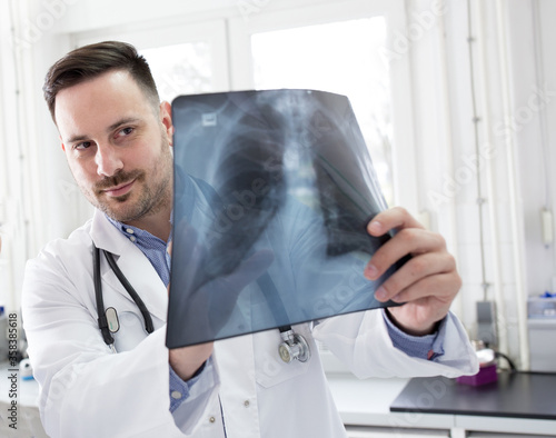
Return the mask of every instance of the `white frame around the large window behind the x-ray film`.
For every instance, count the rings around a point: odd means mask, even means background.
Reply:
[[[387,50],[393,49],[394,36],[405,33],[406,10],[403,0],[350,0],[338,2],[300,6],[282,10],[262,9],[250,17],[229,19],[229,62],[230,89],[246,90],[254,88],[254,71],[250,52],[250,36],[258,32],[291,29],[297,27],[347,21],[359,18],[384,16],[387,22]],[[413,98],[410,89],[409,53],[404,53],[390,63],[390,91],[393,117],[393,185],[394,202],[417,213],[418,177],[414,141]]]

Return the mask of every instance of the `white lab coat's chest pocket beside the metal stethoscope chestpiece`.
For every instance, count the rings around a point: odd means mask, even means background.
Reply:
[[[315,351],[315,342],[308,330],[301,329],[305,326],[295,327],[296,332],[302,335],[309,342],[311,352]],[[310,360],[300,362],[294,360],[284,362],[278,354],[278,346],[281,342],[278,329],[264,331],[254,335],[255,364],[257,369],[257,384],[264,388],[271,388],[279,384],[289,381],[302,376],[309,369]]]

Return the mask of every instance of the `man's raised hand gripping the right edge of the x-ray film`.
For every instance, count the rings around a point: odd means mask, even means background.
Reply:
[[[369,235],[376,237],[389,230],[397,232],[375,252],[365,268],[365,277],[375,280],[397,260],[411,255],[377,289],[375,298],[406,302],[387,310],[393,322],[408,335],[431,334],[461,287],[454,257],[447,252],[440,235],[427,231],[403,208],[383,211],[367,226]]]

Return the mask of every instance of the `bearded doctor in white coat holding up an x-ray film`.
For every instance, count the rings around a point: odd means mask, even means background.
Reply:
[[[145,59],[120,42],[68,53],[51,67],[43,90],[68,165],[96,207],[91,220],[50,242],[26,272],[23,321],[52,438],[345,437],[317,339],[360,378],[477,370],[467,336],[448,312],[460,287],[454,259],[440,236],[399,208],[369,223],[375,236],[399,232],[361,276],[377,278],[413,253],[376,293],[405,306],[295,327],[314,352],[306,362],[279,359],[278,330],[168,350],[170,106],[160,103]],[[115,256],[153,322],[149,335],[102,259],[105,306],[119,313],[116,352],[98,328],[93,243]]]

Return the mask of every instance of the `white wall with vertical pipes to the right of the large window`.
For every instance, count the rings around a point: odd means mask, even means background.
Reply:
[[[471,1],[469,30],[467,1],[447,4],[453,169],[451,173],[447,169],[445,180],[457,182],[460,316],[473,332],[475,302],[496,301],[499,348],[526,368],[527,297],[554,291],[554,242],[543,241],[540,211],[552,211],[556,188],[552,172],[556,66],[550,56],[556,8],[550,1]],[[476,123],[473,117],[478,118]],[[477,150],[492,153],[481,160],[477,178],[467,178]],[[446,181],[443,190],[449,192],[454,185]],[[480,209],[477,198],[483,199]]]

